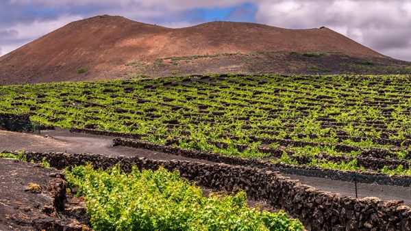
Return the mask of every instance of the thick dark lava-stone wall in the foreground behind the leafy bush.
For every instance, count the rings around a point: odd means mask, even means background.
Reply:
[[[358,200],[313,187],[281,176],[269,169],[206,164],[191,161],[160,161],[138,157],[105,157],[99,154],[26,152],[27,161],[43,158],[52,167],[63,168],[91,163],[96,168],[119,165],[125,172],[132,166],[178,170],[197,185],[216,190],[242,189],[249,198],[266,200],[300,219],[308,230],[411,230],[411,208],[402,202],[382,202],[377,198]]]

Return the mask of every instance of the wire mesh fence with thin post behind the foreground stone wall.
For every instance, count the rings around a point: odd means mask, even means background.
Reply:
[[[273,167],[272,170],[323,191],[354,198],[376,197],[386,201],[401,200],[411,205],[411,177],[292,167]]]

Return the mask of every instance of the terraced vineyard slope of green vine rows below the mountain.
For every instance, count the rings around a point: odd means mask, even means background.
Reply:
[[[410,98],[401,75],[216,75],[0,87],[0,111],[236,157],[410,174]]]

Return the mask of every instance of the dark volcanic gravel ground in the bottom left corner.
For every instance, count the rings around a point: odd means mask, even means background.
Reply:
[[[0,230],[43,230],[51,221],[67,230],[78,228],[79,221],[55,209],[56,189],[62,189],[55,187],[62,181],[55,176],[60,174],[38,164],[0,158]]]

